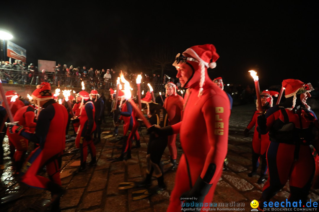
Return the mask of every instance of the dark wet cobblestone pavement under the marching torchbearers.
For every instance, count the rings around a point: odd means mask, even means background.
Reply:
[[[248,177],[251,171],[251,140],[253,130],[249,137],[244,137],[242,131],[249,123],[254,113],[254,105],[236,106],[230,119],[229,143],[227,159],[229,161],[226,170],[217,185],[213,202],[239,202],[244,203],[245,211],[250,211],[250,202],[259,199],[263,185],[257,184],[259,176]],[[109,130],[111,120],[104,125],[104,130]],[[122,127],[119,127],[121,130]],[[120,131],[120,134],[122,132]],[[169,195],[174,187],[175,172],[169,171],[164,175],[167,190],[142,200],[132,201],[132,191],[118,190],[117,186],[124,181],[140,181],[145,176],[146,148],[148,135],[146,130],[140,132],[141,147],[132,149],[132,159],[128,161],[110,162],[108,159],[118,157],[121,153],[121,143],[111,142],[114,138],[102,139],[97,148],[98,162],[96,166],[90,167],[80,174],[73,174],[62,179],[63,187],[67,193],[61,198],[61,209],[63,212],[75,211],[116,211],[116,212],[160,212],[166,211],[169,203]],[[42,198],[50,198],[47,191],[29,188],[19,185],[12,176],[11,162],[9,161],[7,140],[5,147],[6,169],[0,172],[1,186],[0,195],[20,191],[22,198],[1,205],[0,211],[33,211],[30,206]],[[72,144],[73,145],[73,144]],[[134,146],[134,144],[133,144]],[[177,141],[177,146],[179,142]],[[70,148],[70,147],[68,147]],[[178,148],[178,159],[182,150]],[[169,159],[169,151],[165,150],[162,160]],[[63,156],[62,172],[73,171],[76,168],[70,164],[79,160],[79,153],[70,153]],[[87,161],[90,161],[88,158]],[[259,170],[258,170],[259,172]],[[44,173],[44,171],[42,171]],[[153,180],[156,185],[156,180]],[[289,196],[289,184],[274,197],[274,201],[283,201]],[[319,200],[319,189],[311,190],[309,194],[311,201]],[[223,208],[223,207],[219,207]],[[226,208],[226,207],[225,207]],[[236,207],[237,208],[237,207]],[[239,210],[238,210],[239,211]]]

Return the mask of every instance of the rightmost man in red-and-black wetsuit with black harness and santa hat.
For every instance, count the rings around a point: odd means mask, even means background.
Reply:
[[[319,124],[315,113],[307,105],[310,83],[298,79],[282,82],[286,100],[283,104],[269,108],[257,118],[258,132],[269,132],[271,140],[267,150],[269,178],[263,187],[259,208],[267,208],[270,199],[286,185],[289,179],[290,195],[287,208],[293,202],[305,205],[315,173],[315,161],[310,144],[319,149]]]

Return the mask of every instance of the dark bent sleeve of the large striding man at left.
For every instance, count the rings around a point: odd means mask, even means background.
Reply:
[[[35,128],[36,133],[23,131],[20,133],[20,135],[30,141],[38,143],[40,147],[43,148],[45,144],[45,140],[47,138],[47,134],[49,132],[50,123],[54,115],[55,115],[54,106],[49,105],[48,107],[43,109],[41,113],[39,114],[37,126]]]

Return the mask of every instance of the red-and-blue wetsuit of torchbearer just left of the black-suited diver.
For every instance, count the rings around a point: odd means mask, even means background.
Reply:
[[[128,155],[130,155],[130,151],[132,147],[132,138],[134,135],[137,136],[138,134],[137,133],[138,124],[135,118],[135,112],[129,101],[126,101],[125,104],[123,104],[120,115],[121,116],[119,120],[124,121],[124,125],[123,125],[124,143],[123,143],[122,154],[128,153]]]

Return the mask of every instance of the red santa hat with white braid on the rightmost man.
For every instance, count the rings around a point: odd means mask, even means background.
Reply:
[[[285,88],[285,97],[293,96],[292,108],[296,105],[297,94],[313,91],[311,83],[305,84],[298,79],[284,79],[282,86]]]

